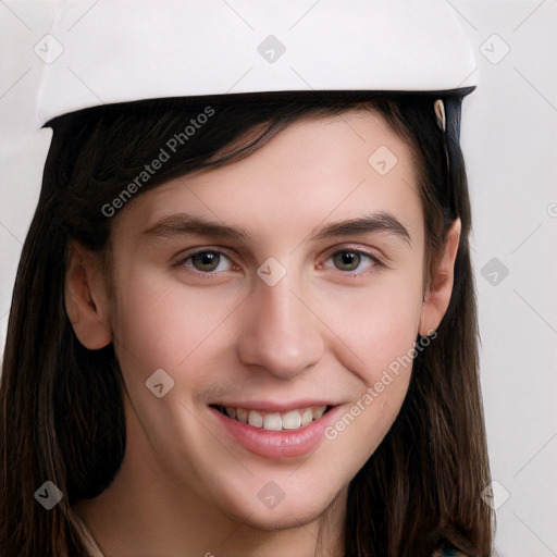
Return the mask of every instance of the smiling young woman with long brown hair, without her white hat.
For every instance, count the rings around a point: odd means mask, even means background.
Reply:
[[[4,355],[0,555],[490,555],[470,90],[53,117]]]

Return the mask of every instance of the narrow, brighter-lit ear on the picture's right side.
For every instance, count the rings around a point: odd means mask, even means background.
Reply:
[[[419,329],[422,336],[435,331],[447,311],[455,282],[455,259],[461,228],[460,219],[456,219],[447,232],[443,255],[425,289]]]

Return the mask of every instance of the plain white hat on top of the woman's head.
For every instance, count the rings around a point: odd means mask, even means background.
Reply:
[[[475,85],[473,47],[445,0],[69,0],[37,49],[46,62],[40,124],[88,107],[166,97],[462,97]]]

